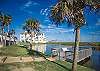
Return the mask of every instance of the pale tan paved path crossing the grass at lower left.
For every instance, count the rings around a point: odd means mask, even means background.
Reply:
[[[31,61],[45,61],[43,57],[11,57],[0,56],[0,63],[14,63],[14,62],[31,62]]]

